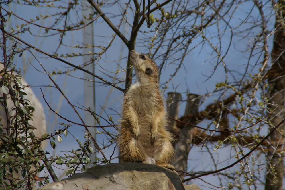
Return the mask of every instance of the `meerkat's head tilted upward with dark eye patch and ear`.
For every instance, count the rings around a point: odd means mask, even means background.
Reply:
[[[158,67],[155,62],[145,54],[138,53],[135,50],[132,50],[130,54],[136,70],[137,80],[139,82],[158,83]]]

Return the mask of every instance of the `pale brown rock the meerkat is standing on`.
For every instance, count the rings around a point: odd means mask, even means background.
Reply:
[[[39,190],[201,190],[184,185],[177,172],[143,163],[98,165],[62,181],[48,183]]]

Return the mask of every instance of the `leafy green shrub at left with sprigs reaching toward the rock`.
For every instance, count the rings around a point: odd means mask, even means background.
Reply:
[[[8,58],[13,57],[17,42],[15,42],[13,47],[11,55]],[[65,164],[69,167],[66,176],[74,174],[77,170],[86,171],[86,165],[90,165],[91,163],[97,164],[97,162],[102,162],[99,158],[90,159],[88,153],[91,154],[94,150],[89,140],[84,142],[83,146],[77,140],[80,149],[70,151],[73,155],[57,158],[51,156],[50,159],[46,159],[46,156],[50,153],[39,151],[40,143],[44,140],[49,140],[51,147],[55,149],[55,141],[61,143],[63,141],[61,134],[64,134],[64,137],[66,137],[68,135],[68,128],[71,125],[60,123],[60,125],[64,126],[63,129],[59,128],[51,134],[43,134],[40,138],[34,137],[32,133],[34,127],[29,124],[29,121],[36,110],[24,98],[24,95],[27,94],[23,91],[24,87],[19,80],[21,78],[20,72],[11,67],[13,65],[11,62],[12,59],[7,60],[6,67],[0,71],[0,85],[3,91],[1,105],[4,105],[2,108],[5,110],[7,100],[13,101],[14,106],[12,110],[15,114],[9,118],[10,122],[7,123],[7,126],[1,126],[0,189],[32,189],[36,183],[40,186],[48,183],[50,177],[38,176],[39,172],[48,169],[45,165],[47,162],[51,164],[55,162],[58,165]],[[7,68],[10,69],[9,72]],[[112,121],[112,117],[109,119]],[[7,129],[9,132],[3,133]]]

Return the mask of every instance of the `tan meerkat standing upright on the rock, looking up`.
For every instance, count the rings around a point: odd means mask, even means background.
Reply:
[[[158,67],[145,54],[130,52],[137,82],[127,90],[117,139],[119,160],[156,164],[171,170],[173,141],[165,129],[166,115],[160,94]]]

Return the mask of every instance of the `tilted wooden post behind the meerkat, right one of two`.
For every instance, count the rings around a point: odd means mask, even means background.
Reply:
[[[187,98],[184,115],[188,115],[190,113],[196,112],[199,108],[199,104],[200,104],[199,95],[189,94]],[[195,117],[195,115],[193,115],[193,117]],[[189,122],[189,121],[185,121],[185,122]],[[175,155],[174,162],[172,164],[175,167],[175,169],[178,171],[187,171],[187,161],[188,161],[188,155],[190,151],[190,144],[193,139],[193,131],[194,131],[194,127],[184,126],[178,133],[178,141],[176,145],[177,152]]]

